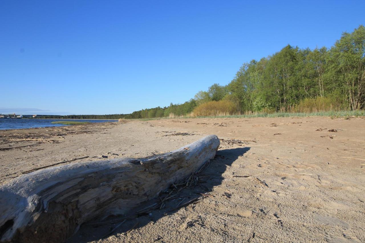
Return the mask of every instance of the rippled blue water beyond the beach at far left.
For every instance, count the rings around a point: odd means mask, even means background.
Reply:
[[[64,124],[51,124],[52,121],[87,121],[87,122],[107,122],[107,121],[117,121],[117,120],[68,120],[68,119],[0,119],[0,130],[4,129],[19,129],[19,128],[32,128],[32,127],[62,127],[69,126]]]

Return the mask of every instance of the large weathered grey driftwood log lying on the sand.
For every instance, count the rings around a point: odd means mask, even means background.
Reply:
[[[214,158],[209,135],[178,150],[142,159],[51,167],[0,186],[0,240],[62,242],[85,221],[123,215]]]

